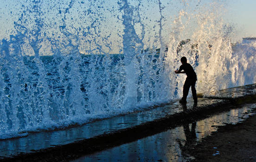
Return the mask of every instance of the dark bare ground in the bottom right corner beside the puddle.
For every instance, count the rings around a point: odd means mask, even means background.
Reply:
[[[220,126],[190,150],[192,162],[256,162],[256,115],[237,125]]]

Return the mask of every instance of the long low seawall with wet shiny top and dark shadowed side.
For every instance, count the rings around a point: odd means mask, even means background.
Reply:
[[[197,105],[193,104],[192,100],[186,105],[175,102],[148,111],[60,130],[58,133],[41,132],[18,139],[3,140],[0,141],[0,157],[2,161],[12,162],[68,161],[154,135],[186,122],[206,118],[217,112],[228,111],[234,106],[254,102],[256,84],[229,88],[220,91],[218,96],[198,99]],[[49,141],[49,138],[56,140]]]

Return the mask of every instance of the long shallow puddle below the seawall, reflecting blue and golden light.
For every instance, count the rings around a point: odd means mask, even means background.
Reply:
[[[193,158],[189,156],[188,149],[194,147],[203,137],[209,136],[211,132],[217,131],[217,126],[242,122],[253,114],[252,110],[255,107],[256,104],[248,104],[132,143],[84,156],[74,162],[184,162]]]

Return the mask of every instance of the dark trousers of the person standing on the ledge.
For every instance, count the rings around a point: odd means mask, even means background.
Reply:
[[[196,80],[186,78],[186,81],[183,86],[183,97],[182,100],[186,100],[188,95],[189,88],[191,87],[193,99],[197,100],[197,91],[196,91]]]

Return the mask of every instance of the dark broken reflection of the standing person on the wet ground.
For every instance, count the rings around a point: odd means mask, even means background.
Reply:
[[[197,105],[194,104],[194,106],[197,106]],[[184,104],[183,105],[183,111],[186,111],[186,110],[187,110],[187,106],[186,106],[186,104]],[[183,130],[184,130],[184,134],[185,134],[185,137],[186,137],[186,142],[185,142],[184,145],[180,142],[179,139],[177,139],[177,142],[179,143],[179,148],[181,150],[181,155],[183,157],[189,156],[190,149],[194,145],[196,145],[196,142],[197,142],[196,126],[197,126],[197,123],[193,122],[192,125],[191,125],[191,130],[190,130],[189,129],[189,124],[183,125]]]

